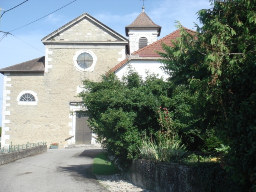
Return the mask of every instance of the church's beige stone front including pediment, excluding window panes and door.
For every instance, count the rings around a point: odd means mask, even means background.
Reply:
[[[99,80],[126,56],[128,40],[97,22],[83,14],[42,39],[46,48],[44,72],[4,73],[2,146],[46,141],[64,147],[76,142],[75,137],[65,139],[76,132],[76,116],[71,113],[82,109],[77,98],[82,80]],[[76,69],[78,51],[95,55],[92,70]],[[34,93],[37,101],[19,104],[23,92]],[[92,143],[95,138],[92,135]]]

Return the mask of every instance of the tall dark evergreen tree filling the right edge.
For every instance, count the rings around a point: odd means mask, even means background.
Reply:
[[[227,170],[256,190],[256,1],[210,2],[195,34],[178,23],[181,37],[163,45],[162,68],[200,95],[197,123],[218,130],[230,146]]]

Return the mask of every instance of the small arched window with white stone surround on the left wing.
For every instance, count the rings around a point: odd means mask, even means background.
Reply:
[[[17,96],[18,105],[37,105],[38,97],[34,91],[22,91]]]

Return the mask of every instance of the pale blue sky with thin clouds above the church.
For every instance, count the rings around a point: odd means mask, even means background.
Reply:
[[[5,11],[25,0],[1,0]],[[0,31],[10,32],[0,42],[0,68],[44,56],[41,39],[87,12],[119,34],[125,36],[124,27],[131,24],[142,11],[142,0],[28,0],[24,4],[3,14]],[[72,2],[71,4],[69,4]],[[59,8],[68,6],[58,10]],[[162,26],[162,38],[174,30],[175,20],[186,28],[200,24],[196,12],[211,8],[209,0],[145,0],[145,12],[155,24]],[[58,10],[57,12],[54,12]],[[50,14],[54,12],[53,14]],[[49,16],[46,16],[50,14]],[[44,17],[46,16],[46,17]],[[44,18],[42,18],[44,17]],[[17,29],[42,18],[28,26]],[[15,30],[17,29],[17,30]],[[13,30],[13,31],[12,31]],[[4,33],[0,33],[0,38]],[[128,38],[128,37],[127,37]],[[158,38],[158,39],[159,39]],[[0,74],[0,117],[2,117],[3,75]],[[2,118],[0,118],[2,125]]]

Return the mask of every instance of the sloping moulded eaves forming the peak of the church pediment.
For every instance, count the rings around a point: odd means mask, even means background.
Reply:
[[[114,36],[116,39],[118,39],[117,42],[114,43],[120,43],[120,42],[126,42],[128,44],[128,39],[125,38],[124,36],[120,35],[118,32],[112,30],[111,28],[109,28],[108,26],[106,26],[105,24],[103,24],[102,22],[98,21],[97,19],[95,19],[94,17],[90,16],[88,13],[83,13],[82,15],[78,16],[77,18],[75,18],[74,20],[68,22],[67,24],[65,24],[64,26],[58,28],[57,30],[55,30],[54,32],[52,32],[51,34],[49,34],[48,36],[45,36],[44,38],[41,39],[41,41],[45,44],[46,42],[55,42],[54,40],[52,40],[52,38],[54,36],[57,36],[58,34],[61,34],[62,32],[68,30],[70,27],[72,27],[74,24],[81,22],[84,18],[96,23],[98,26],[100,26],[102,29],[106,30],[109,34],[111,34],[112,36]],[[113,43],[113,42],[112,42]]]

